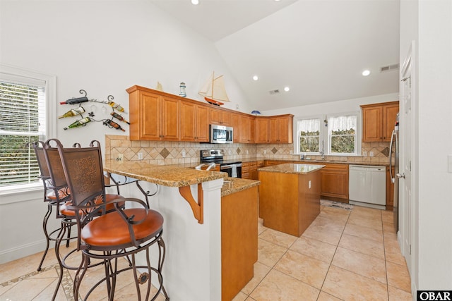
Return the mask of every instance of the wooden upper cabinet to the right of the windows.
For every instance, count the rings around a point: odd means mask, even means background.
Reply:
[[[391,141],[398,102],[362,105],[362,142]]]

